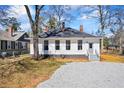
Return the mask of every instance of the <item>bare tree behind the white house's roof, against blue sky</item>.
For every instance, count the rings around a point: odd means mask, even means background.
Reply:
[[[74,20],[74,16],[70,13],[71,7],[65,5],[52,5],[49,6],[49,9],[44,12],[47,15],[47,19],[49,21],[51,19],[56,21],[57,25],[56,28],[61,27],[62,22],[66,22],[67,24]]]

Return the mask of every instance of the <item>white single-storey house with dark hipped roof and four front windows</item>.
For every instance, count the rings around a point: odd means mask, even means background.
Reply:
[[[45,31],[39,35],[39,54],[52,57],[86,57],[100,60],[100,37],[62,26],[62,29]],[[30,54],[34,54],[32,39]]]

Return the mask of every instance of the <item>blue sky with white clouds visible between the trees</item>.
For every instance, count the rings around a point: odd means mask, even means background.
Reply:
[[[0,6],[3,9],[6,9],[8,6]],[[98,30],[98,22],[93,18],[88,18],[89,15],[85,14],[82,15],[80,9],[78,9],[80,6],[69,6],[71,7],[71,11],[68,11],[72,16],[75,16],[74,20],[69,23],[65,23],[65,26],[75,28],[79,30],[80,25],[83,25],[84,31],[90,34],[95,34]],[[119,6],[113,6],[113,8],[119,7]],[[31,14],[34,15],[34,9],[30,6]],[[45,6],[45,9],[48,9],[48,6]],[[28,16],[25,10],[24,6],[10,6],[9,7],[9,16],[14,16],[18,19],[19,22],[21,22],[21,28],[24,31],[30,31],[30,24],[28,20]],[[87,11],[89,8],[84,8],[83,11]],[[14,11],[14,12],[13,12]],[[92,15],[97,15],[97,12],[92,13]],[[107,35],[111,35],[110,31],[106,31]]]

